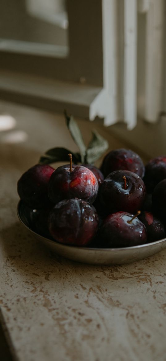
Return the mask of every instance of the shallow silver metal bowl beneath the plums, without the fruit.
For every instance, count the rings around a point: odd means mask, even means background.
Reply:
[[[77,262],[95,265],[120,265],[142,260],[143,258],[152,256],[166,248],[166,238],[157,242],[126,248],[90,248],[69,246],[60,244],[34,232],[31,229],[30,214],[22,201],[18,203],[17,215],[27,230],[40,242],[50,248],[51,251],[60,256],[66,257],[69,260]]]

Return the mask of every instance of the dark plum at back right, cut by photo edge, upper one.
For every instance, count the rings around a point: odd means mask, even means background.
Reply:
[[[159,182],[166,178],[166,156],[153,158],[145,166],[144,183],[151,193]]]

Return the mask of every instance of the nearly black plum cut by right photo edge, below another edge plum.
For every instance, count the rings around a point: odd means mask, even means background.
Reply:
[[[166,217],[166,179],[157,184],[152,193],[152,206],[160,218]]]

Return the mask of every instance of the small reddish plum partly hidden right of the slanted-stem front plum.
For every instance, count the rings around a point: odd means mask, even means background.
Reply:
[[[165,238],[165,230],[162,222],[153,216],[151,212],[141,212],[138,219],[147,229],[147,241],[155,242]]]

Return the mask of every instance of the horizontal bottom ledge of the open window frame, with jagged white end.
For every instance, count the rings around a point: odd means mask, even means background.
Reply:
[[[103,88],[0,71],[0,97],[55,112],[67,109],[75,116],[93,120],[98,115],[95,106],[100,97],[103,99]]]

